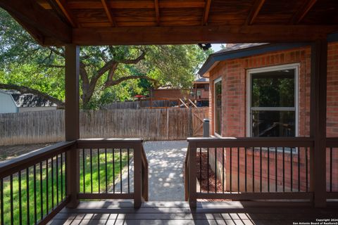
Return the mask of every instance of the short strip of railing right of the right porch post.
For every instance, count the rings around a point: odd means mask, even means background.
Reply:
[[[326,139],[327,199],[338,199],[338,138]]]

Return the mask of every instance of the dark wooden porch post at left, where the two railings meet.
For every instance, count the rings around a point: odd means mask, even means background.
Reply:
[[[73,44],[65,46],[65,140],[74,141],[80,138],[79,117],[79,74],[80,48]],[[76,145],[67,152],[66,177],[67,195],[70,196],[68,207],[77,207],[80,191],[79,152]]]

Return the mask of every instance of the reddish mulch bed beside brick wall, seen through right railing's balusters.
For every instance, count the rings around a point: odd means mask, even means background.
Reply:
[[[223,184],[220,179],[217,179],[215,181],[215,172],[211,169],[209,163],[208,163],[208,156],[207,153],[201,153],[202,159],[201,159],[201,167],[200,167],[200,156],[199,153],[196,154],[196,176],[197,180],[199,181],[199,185],[201,186],[202,193],[208,191],[209,186],[209,193],[215,193],[215,187],[217,190],[217,193],[223,193]],[[202,173],[200,174],[200,168],[202,170]],[[209,177],[208,175],[209,170]],[[201,179],[200,179],[201,176]],[[199,190],[197,190],[199,192]],[[203,200],[208,202],[213,201],[230,201],[227,199],[214,199],[214,200]]]

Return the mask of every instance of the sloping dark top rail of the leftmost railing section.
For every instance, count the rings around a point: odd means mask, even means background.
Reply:
[[[25,169],[38,162],[51,158],[53,155],[64,153],[73,147],[76,141],[63,141],[51,146],[46,146],[30,153],[20,155],[11,160],[0,162],[0,179],[9,176],[20,169]]]

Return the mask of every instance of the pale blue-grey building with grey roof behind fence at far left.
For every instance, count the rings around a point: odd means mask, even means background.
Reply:
[[[56,104],[34,94],[20,94],[18,91],[0,90],[0,113],[23,113],[31,111],[56,110]]]

